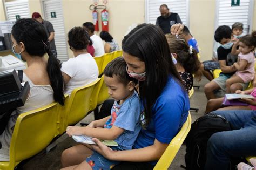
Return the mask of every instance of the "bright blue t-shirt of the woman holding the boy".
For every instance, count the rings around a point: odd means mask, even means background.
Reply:
[[[189,110],[190,101],[187,91],[177,80],[169,77],[163,92],[153,105],[150,124],[146,129],[142,128],[133,147],[137,149],[151,146],[155,139],[169,144],[187,120]],[[143,124],[145,120],[142,115],[140,121]],[[151,162],[151,164],[156,164],[156,162]]]

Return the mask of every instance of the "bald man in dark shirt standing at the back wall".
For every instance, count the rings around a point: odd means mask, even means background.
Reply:
[[[156,25],[160,26],[160,28],[164,31],[165,34],[170,33],[170,28],[173,24],[182,24],[178,13],[170,12],[166,4],[161,5],[159,10],[161,16],[157,18]]]

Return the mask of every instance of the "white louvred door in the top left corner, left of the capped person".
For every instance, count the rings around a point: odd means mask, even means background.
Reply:
[[[5,2],[4,6],[9,21],[16,21],[19,18],[31,18],[29,16],[28,0]]]

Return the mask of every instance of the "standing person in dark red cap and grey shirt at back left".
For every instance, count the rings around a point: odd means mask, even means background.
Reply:
[[[54,40],[54,29],[52,24],[49,21],[44,20],[38,12],[34,12],[32,14],[32,18],[36,19],[39,23],[43,24],[48,36],[48,40],[50,42],[52,55],[57,58],[57,51]]]

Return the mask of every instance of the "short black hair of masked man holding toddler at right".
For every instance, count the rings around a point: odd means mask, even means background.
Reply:
[[[220,43],[223,38],[230,39],[231,35],[231,28],[227,25],[221,25],[215,31],[214,39],[216,42]]]

